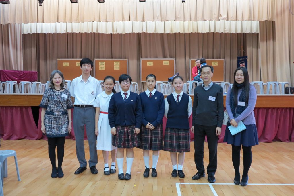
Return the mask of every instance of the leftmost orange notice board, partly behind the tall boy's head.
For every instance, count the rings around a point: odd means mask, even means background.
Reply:
[[[65,80],[74,80],[82,75],[81,59],[57,59],[57,70],[63,73]]]

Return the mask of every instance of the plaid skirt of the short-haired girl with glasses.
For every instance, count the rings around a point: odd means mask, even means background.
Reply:
[[[140,136],[135,134],[135,125],[115,126],[116,135],[112,136],[112,145],[117,148],[134,148],[140,145]]]

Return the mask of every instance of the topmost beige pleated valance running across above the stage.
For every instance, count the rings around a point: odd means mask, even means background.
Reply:
[[[275,21],[281,0],[13,0],[0,4],[0,23],[118,21]]]

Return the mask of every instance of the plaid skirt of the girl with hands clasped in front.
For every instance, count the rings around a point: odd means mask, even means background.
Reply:
[[[162,124],[159,124],[155,129],[147,129],[146,126],[141,126],[140,131],[141,145],[137,148],[143,150],[161,151],[163,150],[163,131]]]

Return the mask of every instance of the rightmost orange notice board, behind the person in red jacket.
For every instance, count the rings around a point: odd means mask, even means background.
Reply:
[[[190,59],[190,80],[192,77],[192,68],[196,66],[196,59]],[[213,66],[213,82],[225,82],[225,60],[224,59],[206,59],[207,65]]]

